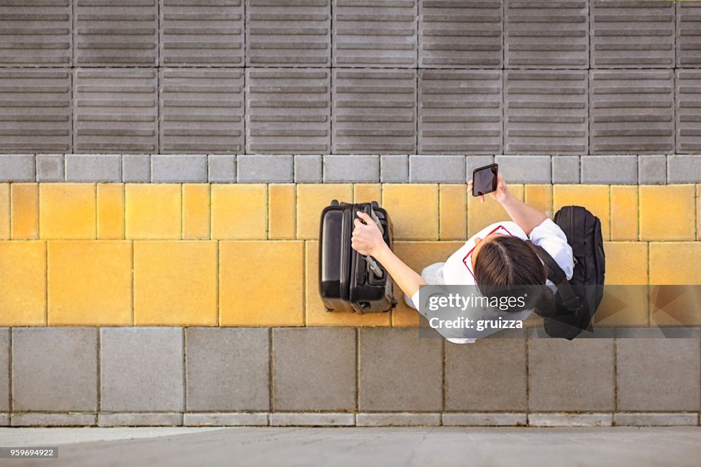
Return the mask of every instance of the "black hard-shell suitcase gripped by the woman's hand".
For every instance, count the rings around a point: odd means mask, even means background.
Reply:
[[[393,226],[387,211],[372,203],[349,204],[334,200],[321,213],[319,234],[319,292],[326,311],[378,313],[397,304],[393,280],[379,262],[351,248],[355,212],[367,212],[393,246]]]

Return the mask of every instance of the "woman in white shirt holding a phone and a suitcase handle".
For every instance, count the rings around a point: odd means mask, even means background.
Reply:
[[[468,183],[468,196],[472,194],[472,180]],[[477,285],[482,295],[489,296],[494,286],[547,285],[538,297],[531,298],[532,309],[501,313],[510,320],[524,320],[535,311],[540,316],[548,316],[554,306],[554,292],[557,287],[547,280],[547,266],[538,257],[539,245],[557,262],[567,278],[572,277],[574,261],[572,248],[562,229],[543,212],[536,210],[513,196],[503,175],[498,174],[496,191],[490,194],[501,203],[511,217],[511,221],[497,222],[484,227],[470,238],[465,245],[454,252],[446,262],[431,264],[416,273],[404,264],[384,243],[376,224],[365,213],[358,215],[365,221],[355,219],[353,248],[362,255],[371,255],[387,269],[406,294],[404,299],[409,306],[419,309],[418,289],[422,285]],[[484,203],[484,196],[480,196]],[[411,298],[409,298],[411,297]],[[496,312],[494,316],[500,313]],[[489,328],[481,332],[463,332],[462,338],[449,338],[449,341],[465,344],[479,337],[494,333],[498,329]]]

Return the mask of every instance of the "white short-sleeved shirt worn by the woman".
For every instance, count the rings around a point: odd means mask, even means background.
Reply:
[[[463,259],[468,252],[475,248],[475,238],[484,238],[489,235],[495,229],[499,229],[498,233],[501,234],[511,234],[512,236],[521,238],[522,240],[528,240],[529,236],[519,227],[515,222],[505,221],[496,222],[495,224],[488,225],[484,229],[477,232],[477,234],[470,237],[470,240],[465,242],[465,245],[461,246],[456,252],[454,252],[446,261],[443,266],[443,278],[447,285],[476,285],[475,277],[472,276],[468,266],[465,265]],[[533,245],[538,245],[547,251],[552,259],[555,260],[558,266],[562,268],[568,279],[572,278],[572,273],[574,270],[574,259],[572,256],[572,247],[567,243],[567,237],[565,236],[562,229],[559,228],[557,224],[552,222],[552,219],[545,219],[540,222],[538,226],[531,230],[530,236]],[[467,260],[470,264],[470,258]],[[472,264],[470,264],[470,268]],[[545,285],[550,287],[553,292],[557,291],[557,287],[548,279],[545,280]],[[418,310],[418,291],[411,297],[411,301],[414,302],[414,306]],[[533,313],[533,309],[519,311],[518,313],[509,313],[508,317],[510,319],[525,320]],[[489,329],[484,332],[475,332],[475,337],[468,337],[463,339],[458,338],[447,338],[448,341],[454,342],[455,344],[472,344],[475,340],[480,337],[485,337],[486,335],[497,332],[497,329]]]

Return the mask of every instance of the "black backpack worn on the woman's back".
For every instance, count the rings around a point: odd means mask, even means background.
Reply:
[[[547,278],[557,285],[554,315],[543,325],[550,337],[574,339],[583,330],[592,331],[592,318],[604,297],[604,240],[599,218],[581,206],[565,206],[554,222],[567,237],[574,256],[574,272],[567,280],[562,268],[543,248],[536,246],[547,265]]]

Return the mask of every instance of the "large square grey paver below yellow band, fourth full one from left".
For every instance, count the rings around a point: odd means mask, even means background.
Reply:
[[[273,329],[274,410],[355,410],[355,355],[352,327]]]

